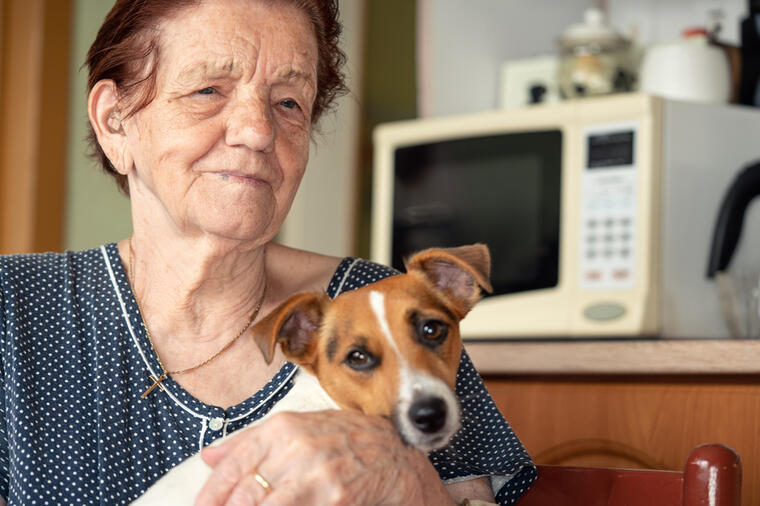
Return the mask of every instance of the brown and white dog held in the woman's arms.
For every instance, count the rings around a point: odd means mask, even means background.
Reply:
[[[459,321],[481,289],[492,290],[490,267],[482,244],[428,249],[406,262],[405,274],[332,300],[324,293],[286,300],[251,331],[267,363],[279,344],[300,368],[294,386],[267,416],[361,411],[392,420],[402,440],[423,452],[446,446],[460,427],[454,394]],[[132,504],[192,504],[210,474],[196,454]]]

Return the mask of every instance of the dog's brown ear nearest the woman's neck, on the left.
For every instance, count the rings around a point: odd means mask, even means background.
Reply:
[[[291,362],[311,363],[316,351],[317,331],[329,300],[324,293],[294,295],[251,329],[253,340],[267,364],[272,363],[278,342],[282,343],[282,351]]]

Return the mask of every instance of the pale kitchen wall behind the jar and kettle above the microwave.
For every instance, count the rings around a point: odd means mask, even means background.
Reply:
[[[739,40],[746,0],[606,0],[610,22],[643,44],[725,15],[722,35]],[[556,52],[559,34],[599,0],[418,0],[417,51],[421,116],[492,109],[502,62]]]

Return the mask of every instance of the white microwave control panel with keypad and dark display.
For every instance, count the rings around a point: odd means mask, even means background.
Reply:
[[[633,287],[636,252],[635,123],[589,126],[583,132],[580,288]]]

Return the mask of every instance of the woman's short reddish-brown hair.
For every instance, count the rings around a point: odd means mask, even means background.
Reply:
[[[117,0],[87,53],[88,93],[103,79],[112,79],[121,96],[129,98],[128,117],[150,104],[156,93],[156,73],[160,61],[158,26],[179,10],[202,0]],[[341,24],[338,0],[264,0],[268,4],[287,3],[303,11],[311,20],[317,38],[317,95],[312,108],[312,124],[329,110],[334,100],[346,93],[342,71],[346,56],[339,47]],[[90,126],[92,156],[103,170],[116,179],[129,195],[127,177],[120,174],[98,143]]]

